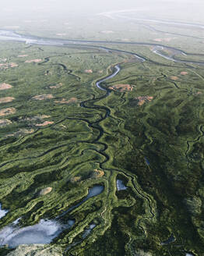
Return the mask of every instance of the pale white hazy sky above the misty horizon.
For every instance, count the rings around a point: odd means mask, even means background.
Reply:
[[[111,9],[129,9],[136,7],[150,8],[163,5],[165,8],[172,4],[188,5],[188,8],[198,9],[204,7],[203,0],[1,0],[0,8],[4,12],[100,12]],[[182,12],[182,9],[181,9]],[[30,13],[32,14],[32,13]],[[193,14],[193,13],[192,13]]]

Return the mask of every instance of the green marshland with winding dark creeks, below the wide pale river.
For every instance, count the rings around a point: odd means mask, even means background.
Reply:
[[[62,216],[63,225],[76,222],[50,248],[65,255],[202,256],[203,66],[162,59],[144,45],[103,44],[146,62],[100,46],[1,42],[0,84],[12,87],[0,101],[14,99],[0,103],[0,119],[9,120],[0,123],[0,202],[9,209],[0,227]],[[118,63],[104,97],[96,82]],[[4,116],[5,108],[15,111]],[[127,190],[117,190],[118,179]],[[66,212],[96,185],[101,194]]]

